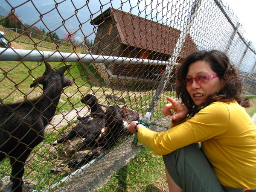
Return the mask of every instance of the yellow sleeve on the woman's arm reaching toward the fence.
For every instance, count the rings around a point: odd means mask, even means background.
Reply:
[[[138,139],[157,155],[165,155],[192,143],[218,138],[227,130],[229,122],[227,106],[222,102],[214,102],[167,131],[155,132],[142,127],[138,131]]]

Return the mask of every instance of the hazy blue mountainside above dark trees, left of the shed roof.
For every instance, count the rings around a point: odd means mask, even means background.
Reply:
[[[59,38],[64,38],[67,31],[75,32],[81,27],[76,32],[77,41],[83,41],[84,38],[89,41],[94,40],[96,30],[93,29],[90,20],[109,7],[120,9],[119,5],[122,3],[121,0],[112,0],[105,5],[98,0],[66,0],[57,4],[52,0],[9,0],[8,2],[11,6],[5,0],[0,1],[0,15],[6,16],[12,8],[15,8],[15,14],[22,23],[35,25],[39,29],[45,29],[46,32],[56,32]],[[122,10],[129,12],[133,2],[130,3],[126,3],[127,5],[122,3]],[[137,4],[137,1],[134,3]]]

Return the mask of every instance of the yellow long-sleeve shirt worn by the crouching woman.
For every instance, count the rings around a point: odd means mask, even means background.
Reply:
[[[256,188],[256,125],[237,102],[214,102],[164,132],[142,127],[138,138],[158,155],[201,142],[222,185]]]

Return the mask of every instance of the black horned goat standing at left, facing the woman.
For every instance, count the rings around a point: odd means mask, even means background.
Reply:
[[[52,69],[45,62],[45,72],[30,87],[43,85],[43,94],[34,100],[0,105],[0,161],[10,158],[12,191],[22,191],[24,164],[32,149],[44,140],[44,128],[52,120],[64,87],[72,80],[64,72],[72,65]]]

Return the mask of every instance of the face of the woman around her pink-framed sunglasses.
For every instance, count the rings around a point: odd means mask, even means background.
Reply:
[[[210,64],[205,61],[196,61],[189,65],[186,78],[192,78],[193,82],[190,85],[186,85],[186,89],[195,102],[195,105],[200,106],[207,96],[221,89],[222,81],[218,77],[214,77],[204,83],[197,83],[194,79],[196,76],[213,74],[216,73],[211,69]]]

